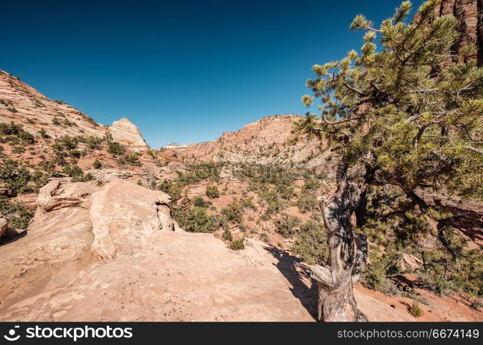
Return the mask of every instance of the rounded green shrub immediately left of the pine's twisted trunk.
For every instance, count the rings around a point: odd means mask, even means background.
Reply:
[[[301,226],[292,244],[292,252],[310,265],[322,265],[327,262],[329,246],[321,222],[309,219]]]

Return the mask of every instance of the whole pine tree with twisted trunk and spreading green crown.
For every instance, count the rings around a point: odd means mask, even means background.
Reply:
[[[320,100],[320,116],[307,113],[297,128],[325,137],[341,158],[337,191],[320,203],[330,252],[328,266],[314,268],[321,320],[365,319],[352,285],[366,263],[367,240],[350,218],[368,186],[400,188],[435,220],[448,250],[453,216],[428,205],[418,188],[483,199],[483,70],[467,59],[474,45],[451,50],[458,23],[434,19],[438,3],[426,1],[407,23],[411,3],[404,1],[379,28],[359,14],[350,28],[366,32],[361,52],[313,66],[307,81],[314,93],[302,101],[309,107]]]

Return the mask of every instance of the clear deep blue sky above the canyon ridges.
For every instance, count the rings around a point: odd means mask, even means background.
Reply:
[[[2,1],[0,69],[102,124],[127,117],[153,148],[208,141],[303,114],[312,65],[361,46],[354,16],[400,2]]]

